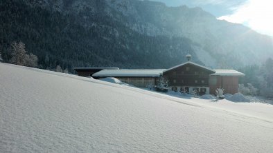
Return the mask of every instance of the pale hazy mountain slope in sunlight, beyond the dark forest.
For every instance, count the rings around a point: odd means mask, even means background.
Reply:
[[[218,61],[213,67],[237,67],[252,63],[261,63],[268,57],[273,57],[272,38],[258,34],[253,30],[235,23],[220,21],[201,8],[186,6],[167,7],[164,3],[152,1],[107,0],[109,6],[120,11],[125,17],[134,19],[129,27],[143,28],[141,33],[154,35],[170,35],[186,37],[195,42],[194,51],[204,50],[209,53],[211,60]],[[130,7],[131,6],[131,7]],[[130,9],[123,9],[129,8]],[[133,10],[132,10],[133,9]],[[153,30],[149,27],[155,27]],[[197,54],[198,56],[199,54]],[[198,56],[201,61],[202,54]],[[236,62],[230,62],[236,61]]]

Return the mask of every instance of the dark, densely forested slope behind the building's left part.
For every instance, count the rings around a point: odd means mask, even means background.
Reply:
[[[103,1],[85,8],[80,8],[84,2],[73,1],[72,6],[63,4],[67,9],[63,12],[24,1],[1,3],[3,59],[8,59],[12,41],[26,43],[43,68],[61,65],[69,70],[86,66],[169,68],[184,61],[186,50],[191,52],[191,41],[184,37],[152,37],[127,28],[98,9],[106,7]]]

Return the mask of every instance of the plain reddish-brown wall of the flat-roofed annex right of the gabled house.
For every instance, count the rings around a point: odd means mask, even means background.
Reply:
[[[238,92],[239,76],[214,76],[209,79],[211,94],[215,94],[217,88],[224,88],[224,93],[235,94]]]

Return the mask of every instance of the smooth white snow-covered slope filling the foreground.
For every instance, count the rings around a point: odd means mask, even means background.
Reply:
[[[0,63],[0,152],[272,152],[273,106]]]

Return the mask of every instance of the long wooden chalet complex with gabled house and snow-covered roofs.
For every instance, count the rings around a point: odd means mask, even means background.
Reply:
[[[75,68],[80,76],[92,76],[95,79],[115,77],[124,83],[139,88],[155,86],[160,76],[169,81],[169,90],[189,94],[215,94],[217,88],[224,88],[225,93],[238,92],[238,79],[245,74],[236,70],[207,68],[188,61],[169,69],[118,69],[118,68]]]

